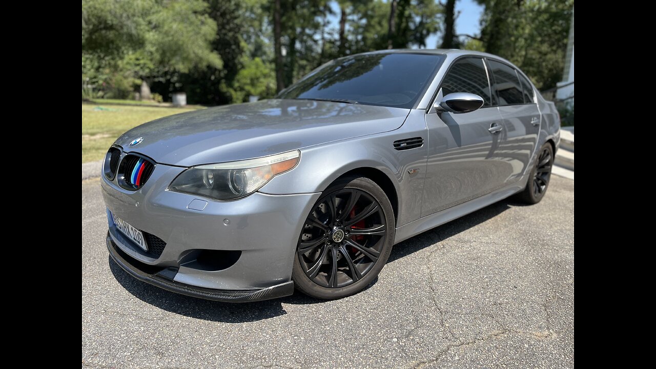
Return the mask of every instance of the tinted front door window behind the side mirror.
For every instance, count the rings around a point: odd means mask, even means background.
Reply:
[[[491,106],[490,87],[482,58],[464,58],[451,66],[442,81],[442,95],[473,93],[485,100],[483,106]]]

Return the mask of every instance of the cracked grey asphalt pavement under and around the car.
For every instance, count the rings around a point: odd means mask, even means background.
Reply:
[[[82,182],[83,368],[572,368],[574,181],[394,246],[369,288],[228,304],[110,259],[99,179]]]

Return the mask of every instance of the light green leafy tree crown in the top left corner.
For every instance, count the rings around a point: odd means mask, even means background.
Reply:
[[[188,1],[82,2],[82,54],[113,77],[144,81],[173,71],[220,67],[207,4]]]

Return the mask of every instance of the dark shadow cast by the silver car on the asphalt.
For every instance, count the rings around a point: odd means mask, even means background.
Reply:
[[[522,206],[512,200],[502,200],[491,206],[483,207],[474,213],[465,215],[455,221],[441,225],[440,227],[428,230],[418,236],[405,240],[392,248],[392,253],[388,263],[415,253],[416,251],[432,246],[436,243],[446,240],[447,238],[459,234],[463,230],[474,227],[488,219],[491,219],[503,211],[510,209],[511,206]],[[213,322],[241,323],[255,322],[268,318],[275,318],[287,314],[282,304],[309,305],[315,303],[325,303],[326,300],[314,299],[300,292],[295,292],[291,296],[281,297],[279,299],[259,301],[253,303],[222,303],[218,301],[209,301],[180,295],[178,293],[162,290],[146,282],[133,278],[133,276],[123,271],[112,257],[108,256],[110,270],[117,282],[132,293],[134,297],[149,303],[159,309],[171,313],[190,316],[191,318],[210,320]],[[371,288],[378,281],[376,277],[373,282],[365,288]]]

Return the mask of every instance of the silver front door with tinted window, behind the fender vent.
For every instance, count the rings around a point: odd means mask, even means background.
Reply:
[[[449,93],[473,93],[482,108],[464,114],[431,108],[426,114],[428,165],[422,216],[462,204],[503,185],[512,173],[496,152],[504,140],[503,121],[493,100],[482,58],[466,57],[451,65],[438,99]],[[495,128],[496,127],[496,128]]]

